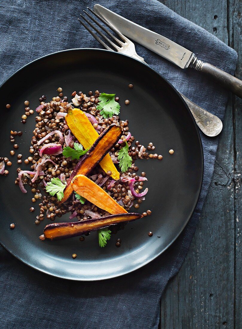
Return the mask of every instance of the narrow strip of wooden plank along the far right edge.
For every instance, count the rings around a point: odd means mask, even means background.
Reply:
[[[241,0],[233,0],[229,4],[229,45],[233,47],[238,53],[238,65],[235,76],[242,79],[242,2]],[[238,97],[233,98],[233,122],[234,122],[234,182],[235,182],[235,291],[234,291],[234,307],[235,318],[234,328],[241,328],[242,326],[242,189],[241,189],[241,143],[242,143],[242,100]]]

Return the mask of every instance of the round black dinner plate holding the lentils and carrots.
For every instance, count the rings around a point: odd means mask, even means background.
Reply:
[[[133,89],[128,84],[134,85]],[[63,241],[40,241],[45,219],[37,226],[38,202],[31,203],[32,193],[22,194],[14,185],[17,177],[16,155],[28,157],[35,114],[20,123],[24,101],[35,110],[39,97],[50,101],[62,87],[69,101],[73,90],[96,89],[116,93],[120,97],[121,119],[129,120],[129,130],[136,140],[148,145],[163,160],[138,160],[147,173],[149,191],[139,212],[152,210],[152,215],[125,226],[113,235],[105,248],[98,246],[97,233]],[[124,105],[130,100],[128,106]],[[17,71],[0,88],[1,154],[13,165],[9,175],[0,177],[0,241],[14,256],[42,272],[71,280],[102,280],[131,272],[160,255],[181,233],[196,206],[203,175],[203,152],[197,126],[177,91],[157,72],[128,56],[99,49],[72,49],[42,57]],[[11,104],[7,110],[5,105]],[[10,131],[23,131],[16,137],[19,149],[14,157]],[[174,149],[173,155],[169,150]],[[36,211],[31,213],[29,208]],[[68,216],[57,218],[66,221]],[[10,223],[15,229],[10,230]],[[153,237],[148,237],[148,232]],[[122,239],[117,248],[117,238]],[[77,258],[72,259],[76,253]]]

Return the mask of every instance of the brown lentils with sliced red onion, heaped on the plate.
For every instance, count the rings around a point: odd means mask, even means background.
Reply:
[[[150,158],[162,160],[162,156],[158,154],[148,154],[147,151],[155,149],[153,143],[150,142],[148,147],[145,148],[145,146],[140,144],[139,141],[135,141],[134,136],[129,132],[128,120],[122,121],[116,114],[106,118],[104,115],[100,114],[101,111],[97,109],[100,96],[98,90],[94,93],[89,91],[88,94],[84,94],[81,91],[76,93],[74,91],[72,93],[73,98],[71,103],[68,103],[66,96],[62,97],[62,88],[59,87],[57,90],[60,92],[59,96],[53,97],[48,103],[44,102],[44,100],[46,100],[45,96],[40,97],[40,106],[36,109],[38,113],[35,120],[36,128],[33,131],[30,146],[31,156],[24,160],[24,164],[31,164],[30,169],[32,170],[32,173],[27,170],[21,171],[21,169],[18,168],[18,177],[15,180],[16,185],[21,186],[28,184],[31,187],[31,191],[34,194],[34,197],[32,198],[33,203],[40,200],[40,213],[37,215],[35,223],[38,225],[45,216],[47,219],[54,221],[56,217],[61,217],[66,213],[70,213],[70,219],[76,218],[78,221],[110,215],[107,211],[98,208],[95,204],[89,201],[85,201],[84,203],[80,202],[74,193],[72,193],[71,198],[65,203],[60,203],[56,196],[48,194],[42,195],[43,193],[40,192],[40,187],[45,191],[46,185],[51,182],[53,178],[59,178],[62,182],[66,182],[79,161],[78,159],[72,160],[70,157],[65,157],[60,149],[56,154],[50,155],[42,154],[40,152],[43,147],[47,149],[48,144],[49,146],[52,146],[50,144],[57,145],[61,139],[60,135],[62,135],[63,139],[62,147],[64,148],[68,146],[69,148],[74,149],[74,144],[77,140],[71,133],[65,120],[68,109],[74,107],[80,109],[87,115],[95,131],[99,135],[107,127],[113,124],[122,127],[121,139],[113,145],[109,154],[113,163],[119,168],[119,152],[125,145],[127,145],[128,156],[132,159],[131,165],[127,170],[121,173],[119,180],[112,179],[112,172],[110,170],[105,172],[99,165],[88,174],[88,178],[106,191],[125,210],[129,210],[131,207],[138,210],[139,205],[145,201],[146,193],[144,193],[143,189],[146,180],[146,173],[142,172],[141,176],[136,174],[139,168],[135,165],[135,160]],[[115,97],[115,101],[119,101],[117,96]],[[26,103],[25,105],[29,104]],[[16,147],[14,148],[16,149]],[[19,156],[18,160],[22,162],[21,158],[22,156]],[[19,164],[21,163],[20,161]],[[38,165],[40,170],[38,175],[36,175],[35,172]],[[20,174],[21,172],[22,174]],[[33,175],[36,176],[34,181],[32,178]],[[29,180],[29,178],[31,180]],[[132,181],[132,185],[129,184],[130,181]],[[147,192],[148,189],[145,191]],[[34,208],[31,207],[30,211],[33,212]],[[150,214],[151,211],[147,210],[147,212],[142,215],[147,216]],[[116,233],[122,228],[124,228],[124,224],[122,223],[112,225],[112,227],[110,227],[111,233]],[[40,240],[44,240],[43,235],[40,237]],[[83,241],[84,239],[80,240]],[[120,246],[120,241],[117,241],[117,243],[118,245],[116,245]]]

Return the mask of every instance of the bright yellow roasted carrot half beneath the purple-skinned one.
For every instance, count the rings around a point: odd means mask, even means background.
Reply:
[[[66,115],[66,122],[72,134],[85,149],[92,145],[99,136],[85,113],[79,109],[69,109]],[[113,164],[109,154],[105,155],[103,160],[101,160],[100,166],[105,172],[110,170],[113,179],[120,179],[120,173]]]

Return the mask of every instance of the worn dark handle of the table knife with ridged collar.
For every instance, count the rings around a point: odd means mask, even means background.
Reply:
[[[217,81],[219,81],[223,87],[229,89],[233,94],[242,98],[242,81],[235,78],[231,74],[220,70],[216,66],[209,63],[203,63],[201,60],[196,59],[191,65],[195,70],[204,72]]]

